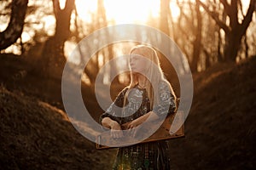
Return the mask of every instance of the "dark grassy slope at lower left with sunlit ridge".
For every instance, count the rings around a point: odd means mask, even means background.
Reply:
[[[38,99],[2,86],[0,112],[1,169],[102,169],[101,159],[113,159],[111,150],[94,150],[66,113]]]

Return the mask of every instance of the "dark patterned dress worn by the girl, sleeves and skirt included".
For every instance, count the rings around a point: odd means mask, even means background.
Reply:
[[[118,107],[123,107],[125,94],[128,88],[124,88],[108,110],[102,114],[102,118],[110,117],[112,120],[123,124],[131,122],[150,111],[150,101],[145,88],[137,86],[130,91],[128,101],[121,116]],[[169,86],[165,82],[159,84],[159,104],[154,105],[153,110],[158,116],[172,114],[176,109],[176,102]],[[169,146],[166,140],[134,144],[131,146],[120,147],[113,164],[113,169],[170,169]]]

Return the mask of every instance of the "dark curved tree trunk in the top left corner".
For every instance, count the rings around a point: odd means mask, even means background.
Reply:
[[[8,48],[21,36],[28,0],[13,0],[7,28],[0,32],[0,50]]]

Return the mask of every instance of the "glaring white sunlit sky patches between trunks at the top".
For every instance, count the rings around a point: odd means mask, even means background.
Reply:
[[[157,0],[104,0],[104,7],[108,20],[115,24],[146,23],[149,16],[158,17],[160,14],[160,1]],[[96,12],[97,1],[76,0],[79,17],[91,21],[90,15]],[[170,3],[172,17],[177,19],[179,8],[176,3]]]

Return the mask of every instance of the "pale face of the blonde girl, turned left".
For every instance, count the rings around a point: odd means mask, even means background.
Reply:
[[[141,74],[146,74],[148,71],[148,65],[150,61],[146,59],[142,54],[132,53],[130,57],[131,71],[135,71]]]

